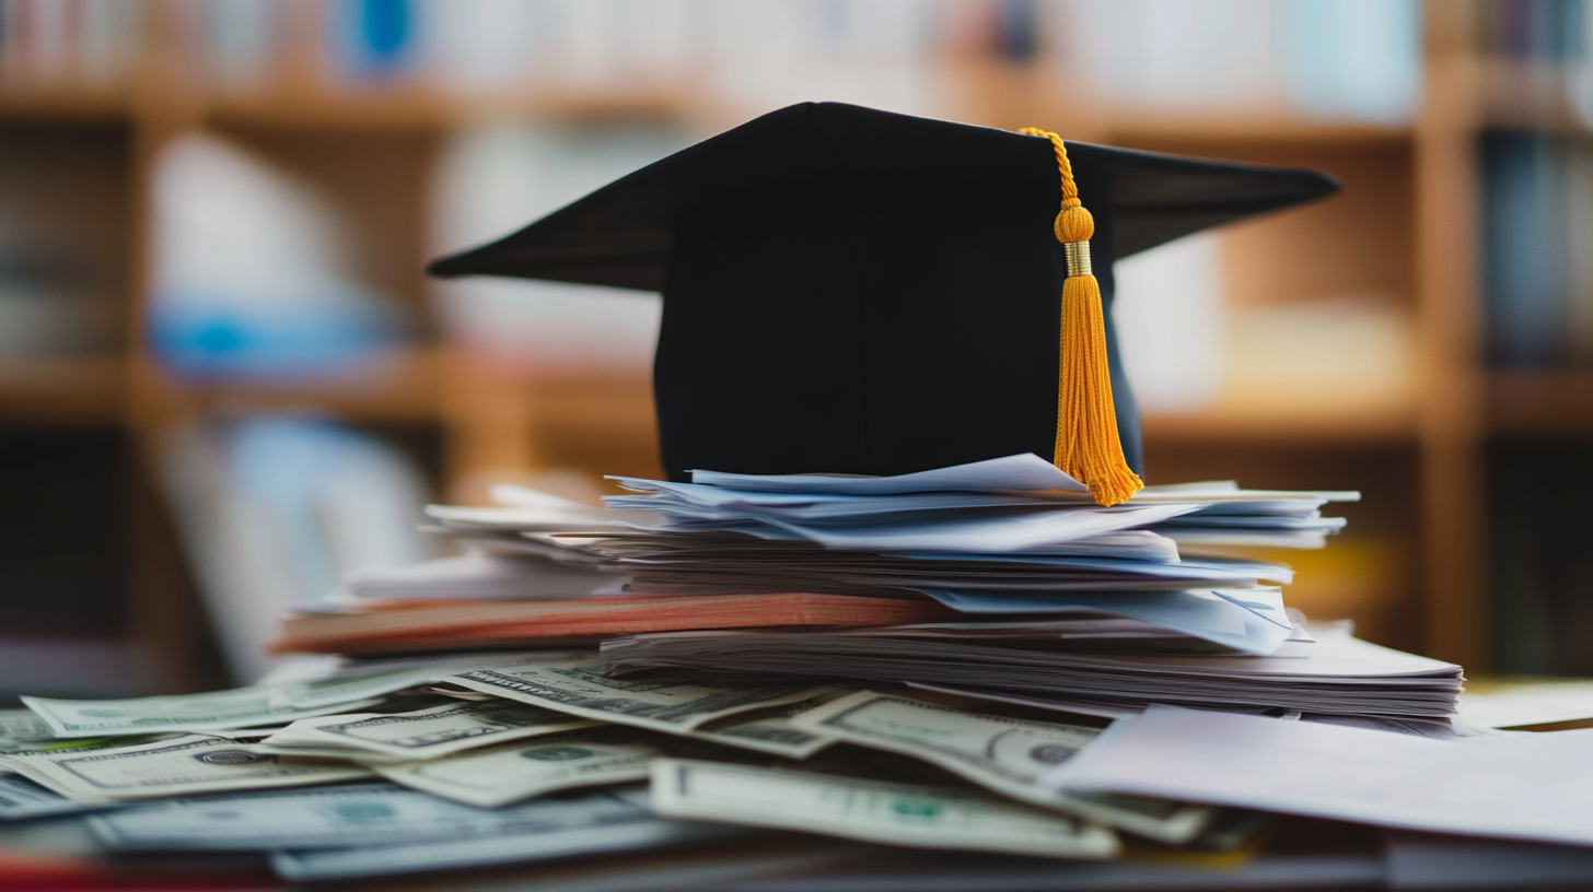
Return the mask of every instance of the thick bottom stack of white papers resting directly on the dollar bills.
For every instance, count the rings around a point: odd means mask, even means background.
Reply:
[[[1150,702],[1238,709],[1446,720],[1454,715],[1461,667],[1400,653],[1346,634],[1289,644],[1271,656],[1166,653],[1168,639],[1123,653],[1133,632],[1067,639],[1043,647],[1051,626],[1008,639],[906,629],[847,632],[712,631],[618,637],[604,656],[618,669],[675,666],[717,672],[790,672],[918,683],[997,701],[1121,715]],[[1141,632],[1142,634],[1142,632]],[[1125,642],[1128,639],[1128,642]],[[1090,647],[1093,645],[1093,647]],[[1016,694],[1016,698],[1015,698]]]

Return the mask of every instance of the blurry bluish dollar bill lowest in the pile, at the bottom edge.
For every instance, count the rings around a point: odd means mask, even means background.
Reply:
[[[277,852],[271,867],[288,881],[333,881],[637,852],[747,835],[739,827],[658,817],[647,806],[645,788],[583,790],[534,800],[505,812],[478,814],[515,817],[503,828],[440,843]],[[647,878],[640,879],[652,887]],[[626,886],[632,887],[642,886]]]

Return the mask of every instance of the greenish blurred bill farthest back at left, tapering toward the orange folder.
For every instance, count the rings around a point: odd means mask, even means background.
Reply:
[[[502,666],[503,656],[492,666]],[[285,725],[331,712],[355,712],[374,706],[382,694],[436,682],[454,672],[481,667],[478,659],[427,663],[293,682],[132,699],[48,699],[22,702],[49,723],[56,737],[99,737],[107,734],[147,734],[151,731],[220,731],[256,725]]]

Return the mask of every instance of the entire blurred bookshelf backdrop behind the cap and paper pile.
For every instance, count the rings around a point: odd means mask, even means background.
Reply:
[[[0,696],[201,690],[440,551],[425,500],[658,475],[656,295],[429,282],[846,100],[1313,166],[1118,266],[1152,483],[1360,489],[1292,604],[1593,674],[1587,0],[0,0]]]

